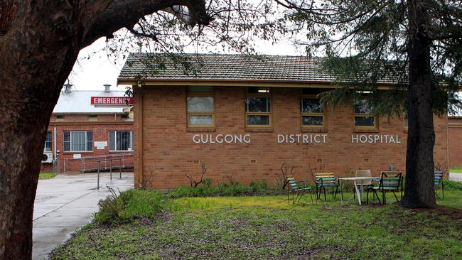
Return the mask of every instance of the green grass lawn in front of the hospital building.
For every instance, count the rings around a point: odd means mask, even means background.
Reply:
[[[299,205],[282,195],[163,203],[155,217],[88,224],[50,259],[462,259],[460,190],[446,190],[437,210],[311,205],[308,195]]]

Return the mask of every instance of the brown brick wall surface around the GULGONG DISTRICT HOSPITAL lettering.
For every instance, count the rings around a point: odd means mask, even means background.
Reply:
[[[198,175],[205,161],[207,178],[227,181],[227,175],[248,185],[250,180],[279,176],[280,166],[296,166],[296,178],[309,178],[308,165],[324,165],[326,172],[350,175],[348,170],[371,169],[374,175],[405,168],[406,131],[402,119],[381,118],[379,131],[355,132],[353,108],[343,104],[326,109],[327,131],[303,132],[300,126],[300,89],[272,88],[272,131],[245,128],[245,87],[215,87],[215,125],[212,132],[186,128],[186,87],[148,86],[135,96],[135,181],[153,173],[154,188],[189,185],[186,174]],[[446,119],[435,117],[435,161],[446,162]],[[193,143],[195,134],[250,134],[250,143]],[[276,134],[327,134],[326,143],[278,143]],[[352,143],[352,135],[393,135],[401,143]],[[251,163],[255,160],[256,163]],[[322,163],[321,163],[322,162]],[[143,175],[141,175],[143,174]]]

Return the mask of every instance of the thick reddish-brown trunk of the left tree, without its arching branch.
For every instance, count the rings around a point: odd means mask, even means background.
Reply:
[[[0,259],[31,259],[45,133],[81,42],[65,2],[23,3],[0,37]]]

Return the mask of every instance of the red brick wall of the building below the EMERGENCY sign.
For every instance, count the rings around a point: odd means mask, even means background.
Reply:
[[[77,171],[81,169],[80,161],[72,160],[74,154],[80,154],[82,157],[87,156],[101,156],[111,153],[124,153],[121,151],[110,152],[109,151],[109,131],[133,131],[133,122],[132,121],[122,121],[122,116],[120,114],[100,114],[97,117],[97,121],[101,123],[89,121],[87,114],[67,114],[65,115],[65,121],[56,121],[55,115],[52,116],[52,121],[48,126],[48,131],[52,133],[52,143],[51,148],[52,152],[54,149],[54,133],[56,127],[56,150],[58,151],[58,158],[60,159],[60,170],[64,170],[63,161],[67,158],[66,161],[66,170],[68,171]],[[85,123],[88,121],[88,123]],[[104,121],[104,122],[103,122]],[[75,124],[78,122],[78,124]],[[93,132],[93,142],[95,141],[107,141],[107,146],[104,149],[97,149],[93,146],[92,151],[84,152],[65,152],[64,151],[64,142],[63,136],[64,131],[92,131]],[[52,163],[42,163],[41,171],[51,171],[53,170]]]

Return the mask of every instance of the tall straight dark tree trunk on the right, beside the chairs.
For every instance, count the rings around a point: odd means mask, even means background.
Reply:
[[[409,91],[407,95],[406,187],[402,206],[434,207],[435,132],[431,92],[431,43],[425,30],[428,14],[421,1],[408,1],[409,11]]]

